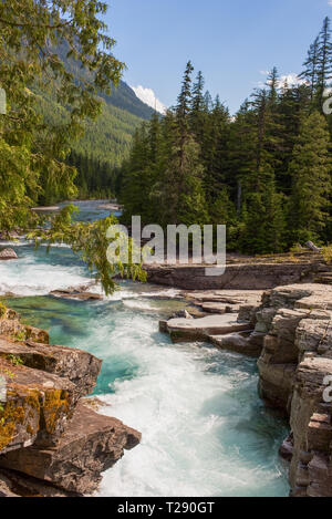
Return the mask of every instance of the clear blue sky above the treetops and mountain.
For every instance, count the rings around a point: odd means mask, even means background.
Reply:
[[[152,89],[167,106],[176,101],[186,62],[234,113],[262,71],[301,71],[332,0],[106,0],[115,54],[125,81]]]

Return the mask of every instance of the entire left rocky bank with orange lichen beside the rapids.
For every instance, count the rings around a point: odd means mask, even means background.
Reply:
[[[49,344],[48,333],[21,324],[13,311],[0,319],[0,496],[92,494],[141,434],[102,416],[83,398],[102,361]]]

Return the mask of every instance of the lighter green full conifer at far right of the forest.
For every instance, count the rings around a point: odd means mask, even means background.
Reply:
[[[292,242],[319,240],[326,226],[331,174],[330,135],[318,112],[303,118],[289,174],[292,178],[289,226]]]

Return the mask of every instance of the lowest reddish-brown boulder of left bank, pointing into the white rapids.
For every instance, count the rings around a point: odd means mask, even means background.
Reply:
[[[137,430],[80,403],[56,447],[13,450],[0,456],[0,467],[14,468],[68,491],[92,494],[102,479],[101,473],[121,459],[124,449],[139,442]]]

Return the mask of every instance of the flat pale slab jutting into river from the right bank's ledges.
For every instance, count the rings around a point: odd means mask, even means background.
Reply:
[[[250,330],[248,323],[237,322],[237,315],[208,315],[201,319],[170,319],[167,331],[174,342],[206,341],[208,335],[226,335],[228,333]]]

